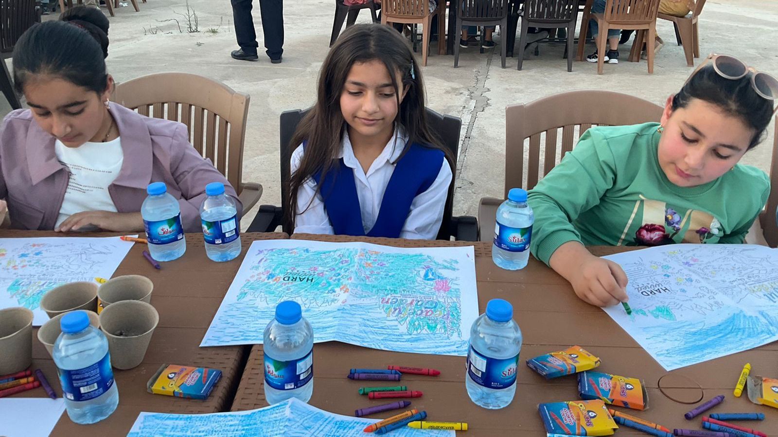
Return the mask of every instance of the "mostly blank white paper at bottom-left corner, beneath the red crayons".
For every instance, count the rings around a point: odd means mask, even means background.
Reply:
[[[51,434],[62,411],[65,411],[65,400],[61,397],[0,398],[0,435],[44,437]]]

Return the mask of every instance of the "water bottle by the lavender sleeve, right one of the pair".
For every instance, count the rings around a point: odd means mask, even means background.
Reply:
[[[205,186],[208,197],[200,205],[205,254],[215,261],[229,261],[240,255],[240,223],[235,201],[224,194],[224,184]]]

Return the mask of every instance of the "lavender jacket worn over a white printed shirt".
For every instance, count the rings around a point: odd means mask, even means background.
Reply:
[[[235,190],[189,144],[184,124],[144,117],[116,103],[110,104],[110,114],[124,151],[121,170],[108,186],[118,212],[139,212],[146,186],[161,181],[178,199],[184,231],[199,232],[205,185],[218,181],[236,202],[240,215],[243,207]],[[14,229],[54,229],[68,187],[68,170],[57,160],[54,139],[33,120],[30,110],[12,111],[2,122],[0,198],[8,202]]]

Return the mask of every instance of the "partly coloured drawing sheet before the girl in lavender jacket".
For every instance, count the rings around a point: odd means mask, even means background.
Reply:
[[[112,237],[0,238],[0,309],[24,306],[46,323],[43,295],[58,285],[110,278],[132,247]]]

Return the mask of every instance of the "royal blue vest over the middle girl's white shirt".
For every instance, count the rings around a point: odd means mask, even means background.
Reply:
[[[378,218],[367,236],[398,238],[413,199],[427,191],[443,166],[443,151],[412,144],[398,160],[391,174]],[[324,198],[324,209],[336,235],[365,236],[362,209],[356,194],[354,171],[338,159],[338,163],[321,180],[321,171],[314,174]]]

